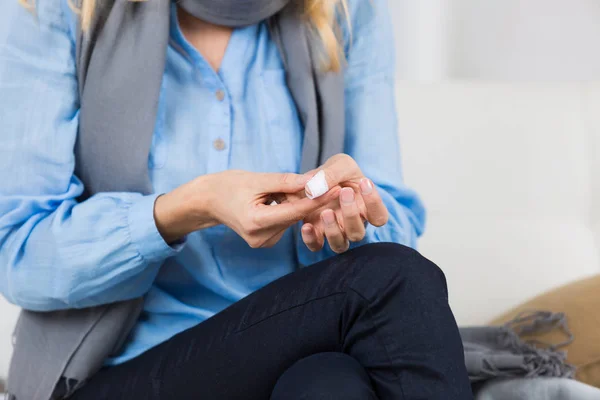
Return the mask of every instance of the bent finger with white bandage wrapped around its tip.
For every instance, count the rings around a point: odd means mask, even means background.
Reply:
[[[306,184],[306,195],[317,198],[329,188],[362,176],[360,168],[352,157],[338,154],[330,158],[325,165]]]

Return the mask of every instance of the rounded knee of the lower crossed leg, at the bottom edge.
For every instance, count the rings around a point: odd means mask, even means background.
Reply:
[[[367,371],[344,353],[296,362],[277,381],[271,400],[378,400]]]

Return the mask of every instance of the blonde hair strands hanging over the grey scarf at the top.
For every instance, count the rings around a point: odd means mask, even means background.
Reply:
[[[29,10],[35,9],[36,0],[18,0]],[[58,1],[58,0],[54,0]],[[98,0],[68,0],[69,5],[81,18],[81,26],[85,30],[90,26],[96,2]],[[146,1],[146,0],[130,0]],[[295,0],[304,2],[304,16],[313,27],[323,46],[323,67],[329,71],[340,71],[345,62],[342,33],[338,21],[341,15],[347,24],[350,23],[347,0]]]

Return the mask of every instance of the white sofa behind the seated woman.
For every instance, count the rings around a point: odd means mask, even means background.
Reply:
[[[405,179],[429,211],[420,250],[459,324],[600,273],[600,83],[397,91]],[[17,309],[0,299],[0,316],[3,377]]]

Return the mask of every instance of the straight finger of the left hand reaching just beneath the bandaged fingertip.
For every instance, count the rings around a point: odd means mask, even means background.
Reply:
[[[302,221],[307,215],[324,207],[327,203],[335,200],[339,195],[339,188],[329,191],[325,196],[316,200],[302,198],[290,201],[276,206],[267,206],[261,204],[258,206],[258,212],[255,222],[260,228],[273,226],[291,226],[298,221]]]

